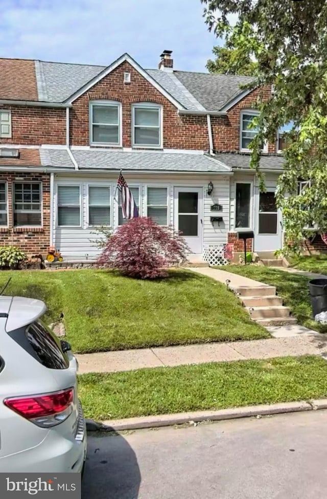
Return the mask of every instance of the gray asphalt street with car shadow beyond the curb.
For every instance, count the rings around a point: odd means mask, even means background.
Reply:
[[[325,499],[327,411],[90,435],[83,499]]]

